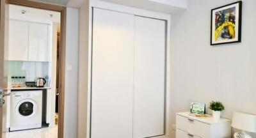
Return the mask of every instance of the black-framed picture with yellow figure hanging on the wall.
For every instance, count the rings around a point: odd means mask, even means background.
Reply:
[[[242,1],[212,9],[211,45],[241,42]]]

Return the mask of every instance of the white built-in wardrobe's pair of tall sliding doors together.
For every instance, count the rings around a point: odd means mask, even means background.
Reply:
[[[91,138],[165,134],[166,21],[93,8]]]

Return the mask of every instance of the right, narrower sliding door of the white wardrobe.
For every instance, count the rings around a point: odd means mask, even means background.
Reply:
[[[164,135],[165,21],[135,17],[133,138]]]

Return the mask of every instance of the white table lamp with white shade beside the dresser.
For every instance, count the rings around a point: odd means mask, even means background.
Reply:
[[[234,138],[252,138],[246,132],[256,133],[256,115],[234,112],[232,127],[242,130],[242,132],[236,132]]]

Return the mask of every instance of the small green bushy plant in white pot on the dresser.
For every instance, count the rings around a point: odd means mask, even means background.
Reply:
[[[210,103],[209,108],[212,110],[212,118],[214,118],[214,119],[220,119],[221,111],[223,111],[225,109],[224,105],[218,101],[216,101],[216,102],[212,101]]]

